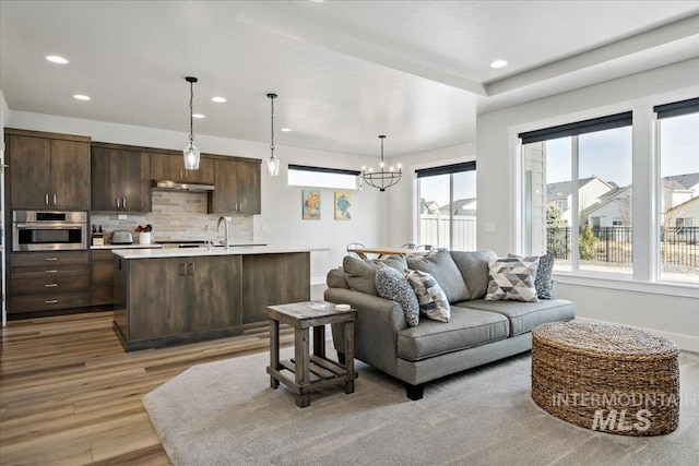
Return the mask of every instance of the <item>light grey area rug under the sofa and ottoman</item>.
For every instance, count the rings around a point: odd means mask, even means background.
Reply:
[[[431,383],[417,402],[358,362],[354,394],[339,384],[303,409],[270,387],[268,365],[258,354],[196,366],[143,397],[174,465],[699,464],[696,403],[668,435],[594,432],[532,402],[529,354]],[[699,357],[680,355],[680,371],[696,401]]]

